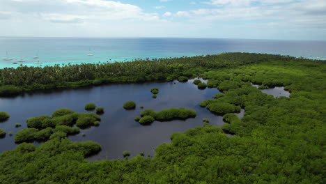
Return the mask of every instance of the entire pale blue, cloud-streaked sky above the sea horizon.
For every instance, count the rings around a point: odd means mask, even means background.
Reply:
[[[0,36],[326,40],[325,0],[1,0]]]

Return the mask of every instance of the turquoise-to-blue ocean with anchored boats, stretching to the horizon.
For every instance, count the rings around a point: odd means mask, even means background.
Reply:
[[[3,61],[7,56],[11,61]],[[255,52],[326,59],[326,41],[246,40],[214,38],[8,38],[0,37],[0,68],[121,62]],[[88,56],[91,53],[93,56]],[[33,56],[38,54],[38,59]],[[24,62],[17,62],[24,59]],[[40,64],[35,62],[40,61]],[[16,62],[17,64],[13,64]]]

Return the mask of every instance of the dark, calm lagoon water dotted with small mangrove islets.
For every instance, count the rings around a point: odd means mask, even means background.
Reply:
[[[102,145],[102,151],[93,156],[91,160],[122,158],[123,151],[131,151],[132,156],[144,151],[146,155],[153,155],[157,145],[170,141],[173,132],[184,132],[190,128],[203,125],[203,118],[209,118],[210,124],[221,126],[222,116],[215,116],[207,109],[199,107],[203,100],[211,99],[217,89],[199,90],[192,84],[193,80],[186,83],[164,82],[145,84],[115,84],[97,86],[90,89],[54,91],[51,93],[34,93],[33,95],[18,96],[16,98],[0,98],[0,111],[10,114],[8,121],[0,123],[0,128],[6,130],[7,135],[0,139],[0,152],[15,148],[15,132],[26,128],[26,118],[51,114],[54,110],[67,107],[76,112],[86,112],[84,105],[94,102],[99,107],[104,107],[104,114],[99,127],[81,130],[79,135],[70,136],[72,141],[96,141]],[[157,98],[152,98],[150,89],[157,87],[160,93]],[[137,103],[135,110],[123,109],[123,103],[134,100]],[[143,109],[160,111],[171,107],[185,107],[197,112],[196,118],[186,121],[155,121],[151,125],[140,125],[134,121]],[[46,108],[45,108],[46,107]],[[238,114],[243,116],[243,112]],[[22,123],[21,128],[15,128],[15,123]],[[10,137],[8,132],[12,131]],[[82,133],[86,137],[82,137]]]

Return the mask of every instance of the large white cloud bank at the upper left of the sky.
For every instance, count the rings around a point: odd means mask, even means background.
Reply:
[[[50,22],[92,22],[98,20],[157,20],[155,13],[144,13],[141,8],[119,1],[104,0],[24,0],[2,3],[0,11]],[[19,16],[18,16],[19,15]],[[79,21],[72,21],[79,20]]]

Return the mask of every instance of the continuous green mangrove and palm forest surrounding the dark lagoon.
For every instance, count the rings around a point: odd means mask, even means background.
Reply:
[[[83,72],[72,72],[79,70]],[[125,160],[89,162],[87,156],[99,151],[100,145],[72,143],[60,136],[40,146],[22,143],[0,155],[1,183],[326,183],[325,61],[230,53],[63,68],[6,68],[1,70],[1,85],[28,91],[29,84],[141,82],[141,77],[170,80],[179,76],[204,77],[209,79],[208,86],[223,91],[215,99],[198,102],[224,116],[222,128],[205,123],[176,132],[170,144],[155,149],[153,158],[140,153]],[[251,83],[285,86],[290,98],[274,98]],[[231,114],[238,108],[245,110],[243,118]]]

